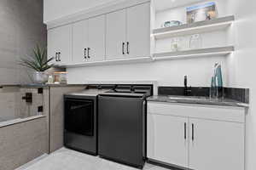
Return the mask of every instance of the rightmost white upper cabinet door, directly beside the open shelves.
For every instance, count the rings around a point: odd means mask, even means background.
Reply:
[[[150,3],[127,8],[126,49],[129,58],[150,56]]]

